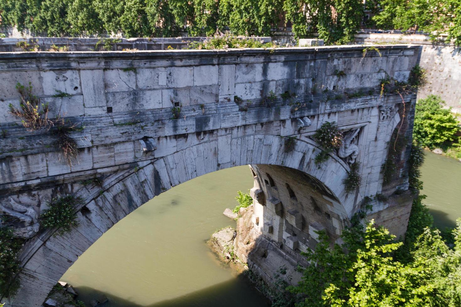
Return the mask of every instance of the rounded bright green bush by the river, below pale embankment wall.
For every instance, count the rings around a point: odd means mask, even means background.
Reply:
[[[418,99],[414,115],[414,139],[423,146],[433,149],[443,147],[457,140],[460,125],[451,109],[444,109],[439,96],[429,95]]]

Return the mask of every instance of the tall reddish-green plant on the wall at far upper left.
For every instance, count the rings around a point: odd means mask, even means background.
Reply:
[[[23,126],[29,131],[53,126],[53,122],[48,119],[48,104],[41,103],[40,98],[32,94],[32,85],[26,87],[20,83],[16,84],[16,89],[20,95],[19,108],[9,105],[10,113],[22,119]]]

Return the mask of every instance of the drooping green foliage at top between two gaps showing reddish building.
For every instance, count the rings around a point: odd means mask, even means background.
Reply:
[[[359,0],[285,0],[283,8],[297,38],[318,33],[327,45],[352,41],[363,15]]]

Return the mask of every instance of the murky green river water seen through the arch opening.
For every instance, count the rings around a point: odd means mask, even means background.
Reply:
[[[252,186],[248,166],[178,185],[113,226],[61,280],[87,303],[104,293],[107,307],[267,306],[206,244],[216,229],[235,226],[222,212]]]

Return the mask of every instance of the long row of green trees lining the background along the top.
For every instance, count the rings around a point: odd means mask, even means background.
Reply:
[[[332,9],[333,8],[333,9]],[[461,45],[461,3],[457,0],[372,0],[368,26],[425,31]],[[176,37],[273,34],[291,25],[295,38],[319,37],[328,45],[354,40],[364,19],[360,0],[75,0],[0,2],[1,26],[42,36]]]

